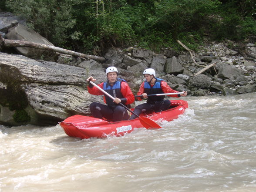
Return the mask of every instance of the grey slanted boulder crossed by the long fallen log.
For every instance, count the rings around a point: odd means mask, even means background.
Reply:
[[[18,24],[15,27],[12,27],[8,30],[6,37],[10,40],[27,40],[34,43],[46,44],[54,46],[46,38],[42,37],[40,34],[37,34],[34,30],[27,28],[23,24]],[[35,59],[44,59],[47,61],[54,61],[57,54],[47,51],[40,50],[30,47],[15,47],[15,49],[22,55]]]

